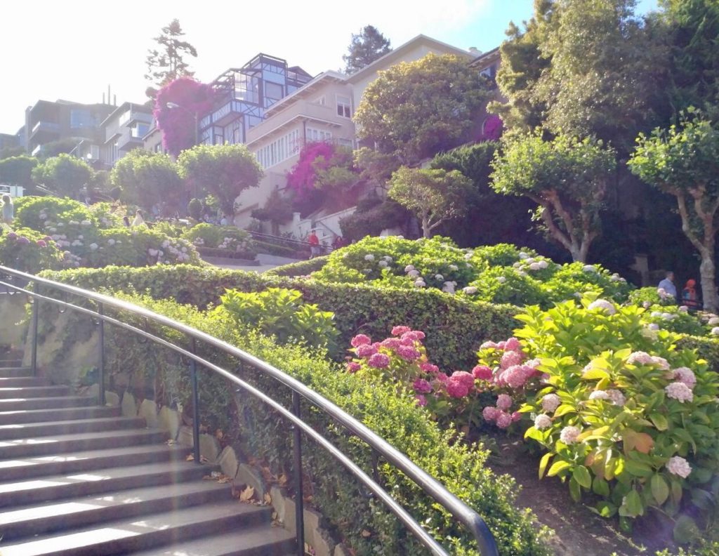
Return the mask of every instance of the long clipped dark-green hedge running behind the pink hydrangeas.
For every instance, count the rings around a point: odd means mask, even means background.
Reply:
[[[217,304],[226,289],[295,288],[308,303],[334,312],[341,345],[349,347],[349,340],[359,332],[382,339],[393,326],[405,324],[425,332],[431,360],[447,371],[472,368],[482,342],[508,337],[518,324],[514,315],[519,309],[514,306],[469,302],[436,290],[319,283],[243,270],[106,267],[45,271],[42,276],[90,290],[147,292],[156,299],[175,298],[200,309]]]

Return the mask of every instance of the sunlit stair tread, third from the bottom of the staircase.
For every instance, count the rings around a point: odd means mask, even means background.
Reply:
[[[54,516],[67,519],[71,514],[114,506],[127,506],[133,503],[177,498],[188,493],[216,491],[218,496],[225,491],[230,498],[229,485],[216,483],[214,480],[194,480],[191,483],[178,483],[168,486],[145,486],[129,488],[126,491],[104,493],[101,496],[91,495],[79,498],[65,498],[51,503],[35,503],[32,505],[12,508],[0,512],[0,529],[9,524],[18,524],[22,521],[44,520]]]

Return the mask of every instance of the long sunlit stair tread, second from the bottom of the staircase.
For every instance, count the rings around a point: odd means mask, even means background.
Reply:
[[[262,516],[269,509],[262,506],[239,503],[229,500],[211,502],[201,506],[166,511],[149,516],[137,516],[127,519],[116,519],[98,524],[99,527],[88,526],[53,535],[32,537],[27,542],[11,542],[3,544],[3,556],[40,556],[65,552],[68,550],[88,553],[93,545],[101,542],[114,542],[129,537],[142,537],[145,534],[162,532],[171,534],[186,527],[200,527],[216,519],[234,519],[242,516]],[[270,533],[272,528],[265,525],[262,529]],[[139,542],[139,539],[137,539]],[[67,553],[67,552],[65,552]],[[101,552],[96,552],[100,554]]]

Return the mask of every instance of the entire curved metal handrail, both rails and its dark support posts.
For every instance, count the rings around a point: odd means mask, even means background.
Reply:
[[[448,553],[444,550],[443,547],[441,547],[440,544],[436,542],[436,540],[429,535],[429,533],[426,532],[425,529],[421,527],[420,524],[417,523],[413,517],[408,514],[408,512],[403,509],[400,504],[395,501],[392,496],[390,496],[387,491],[385,491],[378,483],[375,482],[375,480],[372,480],[362,469],[360,469],[357,464],[355,464],[352,460],[347,457],[347,455],[344,455],[342,451],[340,451],[336,446],[334,446],[331,442],[329,442],[328,439],[326,439],[324,436],[319,434],[319,432],[316,432],[312,427],[310,427],[308,424],[306,424],[300,416],[300,409],[301,409],[301,398],[306,398],[306,400],[311,401],[312,404],[314,404],[316,407],[321,409],[324,414],[331,417],[331,419],[334,419],[339,424],[342,424],[344,428],[355,434],[357,437],[362,439],[367,445],[369,445],[375,452],[377,452],[379,455],[381,455],[385,460],[387,460],[390,464],[394,465],[395,468],[398,470],[401,470],[405,475],[408,476],[408,478],[411,478],[414,483],[416,483],[422,490],[431,496],[431,498],[434,499],[437,503],[439,503],[441,506],[446,509],[446,511],[449,511],[452,516],[454,516],[455,519],[457,519],[460,523],[464,524],[467,529],[472,532],[473,536],[475,537],[477,541],[477,546],[480,550],[480,553],[483,556],[498,556],[498,548],[495,543],[495,539],[493,537],[493,534],[490,532],[489,528],[487,527],[487,524],[485,524],[485,521],[475,512],[472,510],[467,504],[462,502],[457,496],[454,496],[454,494],[450,493],[449,491],[444,488],[444,486],[439,483],[435,478],[431,477],[428,473],[426,473],[424,470],[418,467],[415,463],[413,463],[411,460],[406,457],[402,452],[397,450],[395,447],[390,445],[385,439],[382,437],[379,437],[377,434],[372,432],[369,428],[367,428],[364,424],[359,422],[357,419],[352,417],[351,415],[347,414],[347,412],[343,411],[339,408],[339,406],[336,406],[336,404],[332,403],[328,399],[321,396],[319,393],[313,391],[311,388],[308,388],[306,385],[301,383],[299,380],[296,380],[295,378],[283,373],[281,370],[273,367],[273,365],[270,365],[268,363],[265,363],[265,361],[262,361],[258,359],[257,357],[248,354],[247,352],[244,352],[243,350],[240,350],[238,347],[235,347],[233,345],[228,344],[227,342],[222,341],[221,339],[217,339],[215,337],[210,336],[209,334],[206,334],[205,332],[201,332],[198,329],[194,329],[193,327],[188,327],[186,324],[183,324],[181,322],[177,322],[173,319],[168,318],[167,316],[163,316],[160,314],[157,314],[153,311],[150,311],[148,309],[145,309],[144,307],[140,307],[131,303],[128,303],[127,301],[122,301],[116,298],[112,298],[110,296],[103,295],[101,293],[96,293],[93,291],[84,290],[82,288],[77,288],[75,286],[70,286],[65,283],[59,283],[55,281],[47,280],[46,278],[40,278],[38,276],[27,274],[20,272],[19,270],[14,270],[12,268],[6,268],[4,266],[0,266],[0,273],[4,273],[6,275],[9,275],[11,278],[12,276],[15,276],[17,278],[21,278],[24,281],[32,281],[37,284],[35,290],[31,291],[27,288],[22,288],[20,286],[16,286],[12,283],[6,282],[6,281],[0,281],[0,284],[5,286],[6,288],[12,288],[14,291],[22,291],[23,293],[27,293],[27,295],[31,296],[33,299],[33,312],[32,312],[32,327],[33,327],[33,345],[32,345],[32,368],[35,371],[36,365],[37,365],[37,321],[38,321],[38,314],[39,314],[39,307],[40,307],[40,301],[50,302],[52,304],[56,304],[59,306],[64,306],[65,309],[73,309],[74,311],[79,311],[83,314],[88,314],[93,317],[93,319],[96,319],[100,326],[101,326],[101,338],[103,335],[103,324],[105,322],[108,322],[110,324],[113,324],[117,327],[121,327],[123,329],[127,329],[134,334],[138,334],[139,336],[145,337],[147,339],[151,339],[153,342],[157,342],[158,344],[168,347],[170,350],[173,350],[175,352],[180,353],[180,355],[183,355],[184,357],[188,357],[191,360],[191,383],[193,387],[193,432],[195,434],[194,436],[194,452],[195,452],[195,460],[196,462],[200,461],[200,455],[198,451],[198,428],[199,428],[199,411],[198,411],[198,396],[197,396],[197,380],[196,380],[196,373],[195,373],[195,364],[200,363],[205,368],[208,368],[209,370],[212,370],[214,373],[221,375],[223,378],[226,378],[226,380],[229,380],[232,382],[235,386],[241,388],[244,391],[247,391],[248,393],[252,394],[252,396],[255,396],[256,398],[259,398],[261,401],[263,401],[265,404],[272,407],[275,411],[278,411],[285,419],[288,419],[293,424],[294,430],[295,430],[295,437],[294,437],[294,452],[295,452],[295,471],[296,471],[296,482],[298,483],[298,491],[296,493],[296,532],[298,535],[298,554],[303,554],[304,550],[304,543],[303,543],[303,501],[302,501],[302,490],[301,490],[301,443],[300,443],[300,436],[301,432],[304,432],[308,437],[313,439],[314,442],[317,442],[319,445],[324,447],[325,450],[327,450],[330,455],[336,458],[342,465],[344,465],[347,470],[349,470],[352,475],[354,475],[355,478],[357,478],[361,483],[363,483],[367,488],[372,491],[378,498],[380,498],[383,503],[385,503],[385,506],[388,507],[390,511],[392,511],[395,516],[400,519],[400,521],[403,522],[403,524],[410,529],[410,531],[418,538],[418,540],[427,547],[433,554],[435,555],[447,555]],[[68,303],[67,301],[61,301],[59,299],[55,299],[48,296],[41,295],[40,292],[40,286],[46,286],[49,288],[53,288],[55,290],[63,291],[65,293],[71,293],[75,296],[79,296],[82,298],[86,298],[88,300],[94,301],[97,305],[97,311],[93,311],[91,309],[86,309],[81,306],[73,305]],[[9,289],[8,289],[9,291]],[[179,347],[177,345],[172,344],[171,342],[168,342],[168,340],[162,339],[160,337],[157,337],[153,334],[150,334],[150,332],[147,332],[145,330],[139,329],[137,327],[132,326],[132,324],[127,324],[126,322],[119,321],[118,319],[114,319],[112,316],[108,316],[104,312],[105,307],[112,307],[114,309],[117,309],[119,311],[128,311],[136,316],[140,316],[144,319],[147,319],[148,321],[155,322],[157,324],[160,324],[161,326],[168,327],[171,329],[175,329],[178,332],[182,332],[187,337],[191,339],[191,350],[185,350],[182,347]],[[277,401],[275,401],[273,398],[270,398],[267,396],[267,394],[263,393],[262,391],[259,391],[254,386],[250,385],[246,381],[242,380],[241,378],[238,378],[237,376],[233,375],[232,373],[229,373],[229,371],[224,370],[223,368],[220,368],[217,365],[214,365],[214,363],[211,363],[208,360],[203,359],[202,357],[199,357],[196,355],[195,351],[195,345],[196,341],[201,341],[206,345],[210,345],[211,347],[215,347],[218,350],[221,350],[222,352],[226,352],[229,355],[232,355],[233,357],[237,357],[240,361],[243,363],[248,363],[249,365],[252,365],[257,370],[262,371],[262,373],[265,373],[265,375],[270,376],[271,378],[274,378],[275,380],[278,380],[278,382],[283,383],[285,386],[288,386],[288,388],[292,391],[292,398],[293,398],[293,411],[290,411],[286,409],[284,406],[279,404]],[[99,345],[99,401],[104,401],[104,344],[100,342]]]

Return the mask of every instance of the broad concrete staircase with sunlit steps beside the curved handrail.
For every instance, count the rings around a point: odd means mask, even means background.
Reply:
[[[4,366],[3,366],[4,365]],[[271,506],[203,480],[144,419],[0,361],[0,554],[275,556],[295,538]]]

